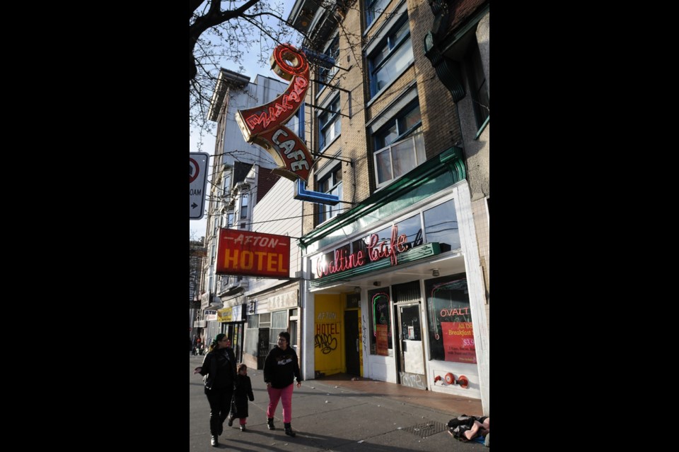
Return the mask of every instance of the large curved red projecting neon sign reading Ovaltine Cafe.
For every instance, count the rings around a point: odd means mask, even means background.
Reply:
[[[245,141],[265,148],[279,168],[272,172],[294,182],[307,182],[313,159],[306,145],[285,124],[297,112],[309,86],[309,64],[303,52],[279,44],[271,56],[271,69],[290,81],[282,95],[268,104],[238,110],[236,122]]]

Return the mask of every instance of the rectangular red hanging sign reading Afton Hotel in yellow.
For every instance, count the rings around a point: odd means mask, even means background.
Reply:
[[[218,275],[289,278],[290,237],[222,228],[216,259]]]

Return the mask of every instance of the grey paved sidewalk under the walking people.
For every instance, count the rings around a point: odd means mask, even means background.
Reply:
[[[240,432],[224,423],[219,448],[210,446],[209,404],[202,377],[193,375],[203,357],[189,358],[190,450],[274,452],[487,452],[474,441],[463,443],[448,434],[451,417],[481,415],[480,400],[407,388],[394,383],[361,379],[352,381],[340,374],[302,381],[292,396],[292,428],[295,438],[283,431],[282,406],[267,429],[269,397],[262,370],[248,370],[255,401],[250,403],[248,430]]]

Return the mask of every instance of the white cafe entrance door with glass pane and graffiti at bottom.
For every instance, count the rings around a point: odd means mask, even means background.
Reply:
[[[416,303],[395,304],[398,376],[403,386],[426,389],[424,369],[424,343],[420,305]]]

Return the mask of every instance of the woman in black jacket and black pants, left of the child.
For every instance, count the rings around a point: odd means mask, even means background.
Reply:
[[[202,366],[193,371],[194,374],[207,375],[204,379],[205,395],[210,404],[211,444],[215,447],[219,446],[217,437],[223,432],[224,420],[231,409],[233,381],[236,379],[236,357],[230,345],[231,340],[226,334],[216,335]]]

